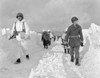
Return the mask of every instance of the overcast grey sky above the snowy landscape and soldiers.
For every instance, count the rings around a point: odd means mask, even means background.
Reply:
[[[100,25],[100,0],[0,0],[0,27],[12,27],[18,12],[32,30],[62,31],[77,16],[82,28]]]

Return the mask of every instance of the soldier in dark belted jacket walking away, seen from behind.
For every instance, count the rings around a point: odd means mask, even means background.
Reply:
[[[66,39],[67,44],[69,40],[69,46],[71,48],[71,51],[70,51],[71,62],[74,62],[74,53],[75,53],[75,59],[76,59],[75,65],[80,65],[79,64],[79,48],[80,46],[83,46],[82,28],[78,24],[77,17],[72,17],[71,21],[73,24],[69,26],[65,39]]]

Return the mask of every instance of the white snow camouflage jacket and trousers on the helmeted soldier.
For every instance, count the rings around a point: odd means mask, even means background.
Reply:
[[[13,34],[13,31],[15,30],[15,26],[16,26],[16,30],[19,32],[19,31],[22,31],[22,29],[23,29],[23,22],[24,22],[24,26],[25,26],[25,35],[26,35],[26,38],[27,38],[27,36],[29,36],[29,27],[28,27],[28,24],[25,22],[25,20],[22,20],[22,21],[17,21],[17,22],[15,22],[14,24],[13,24],[13,28],[12,28],[12,31],[11,31],[11,34]],[[26,42],[26,40],[25,39],[21,39],[21,35],[20,34],[18,34],[17,36],[16,36],[16,40],[18,41],[18,44],[20,45],[20,47],[21,47],[21,49],[22,49],[22,51],[23,51],[23,53],[25,54],[25,55],[27,55],[28,54],[28,52],[27,52],[27,50],[28,50],[28,47],[27,47],[27,42]],[[18,52],[17,53],[17,58],[20,58],[20,55],[21,55],[21,53],[20,52]]]

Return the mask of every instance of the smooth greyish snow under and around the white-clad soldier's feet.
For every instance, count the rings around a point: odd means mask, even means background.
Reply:
[[[22,54],[19,65],[15,65],[17,51],[21,51],[16,40],[8,40],[0,36],[0,78],[28,78],[30,69],[38,64],[45,51],[42,52],[41,36],[31,34],[28,41],[30,60],[26,60]],[[38,57],[39,56],[39,57]],[[34,62],[33,62],[34,61]],[[25,74],[26,73],[26,74]]]

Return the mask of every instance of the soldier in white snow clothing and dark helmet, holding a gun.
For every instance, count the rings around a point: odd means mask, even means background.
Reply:
[[[26,58],[29,59],[29,54],[27,52],[28,48],[26,46],[26,40],[29,38],[29,27],[24,20],[24,16],[22,13],[18,13],[16,18],[17,21],[13,24],[11,31],[12,36],[9,38],[9,40],[15,38],[18,41],[23,54],[25,54]],[[21,63],[20,54],[20,52],[17,53],[17,60],[15,64]]]

